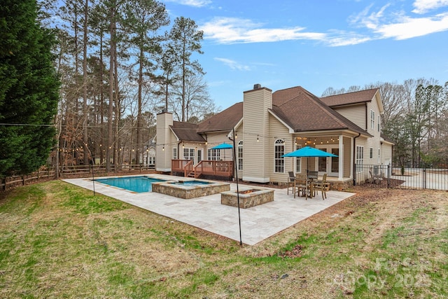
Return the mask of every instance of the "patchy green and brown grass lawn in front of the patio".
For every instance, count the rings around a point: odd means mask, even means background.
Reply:
[[[0,193],[0,298],[447,298],[448,193],[351,191],[243,247],[62,181]]]

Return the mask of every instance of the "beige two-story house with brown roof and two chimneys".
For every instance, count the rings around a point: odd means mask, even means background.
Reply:
[[[204,163],[235,158],[243,181],[284,183],[289,171],[311,169],[327,173],[332,184],[349,186],[356,179],[356,164],[391,161],[392,144],[381,139],[381,113],[378,89],[319,98],[300,86],[272,92],[256,84],[243,92],[243,102],[199,125],[173,121],[172,113],[158,114],[156,169],[172,172],[186,165],[179,161],[191,161],[190,169],[200,166],[200,172]],[[230,149],[212,149],[234,139],[235,157]],[[282,157],[302,146],[337,157]]]

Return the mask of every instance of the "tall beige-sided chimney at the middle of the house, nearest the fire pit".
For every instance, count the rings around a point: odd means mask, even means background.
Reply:
[[[270,141],[267,138],[269,136],[269,113],[267,109],[272,108],[271,91],[260,88],[244,92],[243,106],[243,179],[268,182],[269,169],[266,161],[269,158]]]

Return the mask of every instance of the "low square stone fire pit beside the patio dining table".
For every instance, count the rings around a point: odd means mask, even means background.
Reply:
[[[249,189],[239,190],[239,207],[242,209],[265,204],[274,201],[274,190]],[[238,197],[236,191],[221,192],[221,204],[231,207],[238,207]]]

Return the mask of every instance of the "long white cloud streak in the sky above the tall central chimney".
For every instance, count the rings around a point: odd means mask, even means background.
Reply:
[[[303,27],[262,28],[262,24],[239,18],[214,18],[200,28],[205,39],[218,43],[262,43],[296,39],[325,39],[325,34],[304,32]]]

